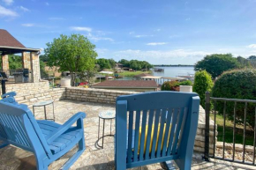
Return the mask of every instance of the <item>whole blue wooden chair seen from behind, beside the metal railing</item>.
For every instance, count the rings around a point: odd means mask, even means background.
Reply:
[[[169,160],[175,160],[182,170],[191,169],[199,107],[200,98],[193,92],[117,97],[117,170]]]

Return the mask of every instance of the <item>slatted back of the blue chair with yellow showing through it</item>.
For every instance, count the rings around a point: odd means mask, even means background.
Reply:
[[[185,124],[190,121],[192,98],[197,96],[196,93],[148,92],[117,98],[117,145],[121,130],[128,128],[126,168],[181,157],[183,138],[187,139],[184,130],[190,130]],[[198,115],[195,117],[198,119]]]

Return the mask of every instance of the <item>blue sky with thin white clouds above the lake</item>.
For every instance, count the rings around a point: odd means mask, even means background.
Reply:
[[[0,28],[27,48],[81,33],[98,58],[193,64],[256,55],[256,0],[0,0]]]

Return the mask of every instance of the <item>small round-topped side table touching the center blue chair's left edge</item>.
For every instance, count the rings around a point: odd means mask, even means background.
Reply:
[[[107,136],[114,136],[111,134],[111,129],[112,129],[112,120],[116,118],[116,112],[115,111],[103,111],[99,114],[99,126],[98,126],[98,141],[97,145],[103,149],[103,144],[104,144],[104,137]],[[100,140],[100,129],[101,129],[101,119],[103,120],[103,130],[102,130],[102,145],[98,144]],[[105,121],[110,120],[110,135],[104,135],[104,130],[105,130]]]

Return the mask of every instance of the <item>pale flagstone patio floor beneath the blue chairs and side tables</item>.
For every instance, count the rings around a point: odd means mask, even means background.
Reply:
[[[51,106],[47,107],[48,118],[51,116],[51,109]],[[77,112],[85,112],[87,114],[87,117],[84,120],[87,149],[73,164],[71,169],[115,169],[114,137],[104,138],[103,149],[100,149],[96,146],[96,141],[98,140],[98,115],[101,111],[104,110],[115,110],[115,106],[110,104],[79,102],[72,100],[60,100],[55,102],[56,122],[64,123]],[[42,108],[35,108],[35,117],[36,119],[44,119]],[[115,132],[114,123],[112,124],[112,127],[112,132]],[[109,121],[106,121],[105,132],[105,134],[110,132]],[[72,152],[68,152],[66,155],[64,155],[64,157],[51,164],[49,169],[59,169],[64,164],[64,162],[72,156]],[[34,155],[31,152],[26,152],[14,146],[7,146],[3,149],[0,149],[0,169],[36,169]],[[154,164],[132,169],[155,170],[162,169],[162,167],[160,164]],[[256,169],[256,166],[246,166],[218,159],[211,159],[211,162],[206,162],[201,159],[200,154],[195,153],[192,160],[192,169]]]

